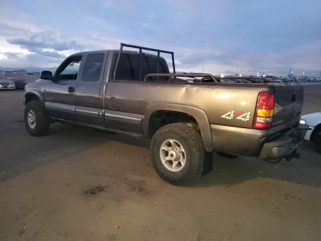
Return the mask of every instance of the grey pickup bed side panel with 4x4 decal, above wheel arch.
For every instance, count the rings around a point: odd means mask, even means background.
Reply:
[[[116,81],[107,84],[106,109],[144,114],[150,103],[186,103],[203,109],[210,124],[252,128],[257,95],[263,90],[266,85]]]

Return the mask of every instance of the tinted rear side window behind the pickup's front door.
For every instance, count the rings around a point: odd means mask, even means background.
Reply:
[[[81,75],[82,81],[98,81],[104,61],[104,54],[88,54]]]

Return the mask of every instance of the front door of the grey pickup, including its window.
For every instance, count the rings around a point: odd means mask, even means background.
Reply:
[[[44,91],[45,105],[51,117],[75,121],[75,90],[82,55],[67,58],[58,67]]]

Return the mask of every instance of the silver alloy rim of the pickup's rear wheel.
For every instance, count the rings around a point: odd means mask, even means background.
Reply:
[[[163,165],[172,172],[181,171],[186,162],[186,154],[181,143],[174,139],[163,142],[159,150]]]

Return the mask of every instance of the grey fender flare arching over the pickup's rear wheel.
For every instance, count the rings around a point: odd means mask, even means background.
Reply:
[[[156,110],[172,110],[172,111],[187,113],[193,116],[196,119],[197,124],[199,125],[205,150],[208,152],[213,151],[210,123],[209,123],[207,114],[203,109],[191,104],[172,103],[172,102],[151,103],[146,107],[146,111],[143,119],[143,131],[147,137],[148,137],[149,119],[151,114]]]

